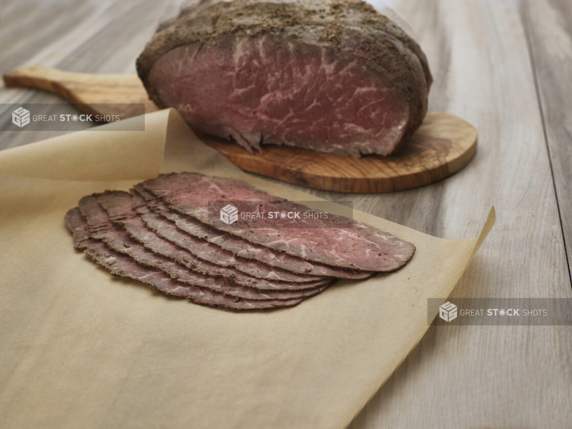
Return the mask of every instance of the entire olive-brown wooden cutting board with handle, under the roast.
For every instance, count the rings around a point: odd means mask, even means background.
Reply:
[[[157,110],[135,75],[73,73],[35,65],[11,70],[3,77],[5,86],[59,94],[84,113],[133,116],[129,108],[117,112],[102,106],[114,103],[145,104],[146,112]],[[251,154],[218,138],[201,136],[201,140],[243,170],[296,185],[337,192],[391,192],[427,185],[458,172],[476,153],[477,132],[458,117],[428,112],[399,153],[362,158],[279,146],[264,146],[263,153]]]

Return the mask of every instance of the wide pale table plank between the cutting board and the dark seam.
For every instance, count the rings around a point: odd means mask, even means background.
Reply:
[[[454,296],[570,297],[518,3],[394,6],[428,55],[430,109],[474,124],[479,152],[446,181],[355,206],[458,238],[474,234],[476,216],[494,204],[497,223]],[[571,355],[569,327],[431,327],[349,427],[569,427]]]

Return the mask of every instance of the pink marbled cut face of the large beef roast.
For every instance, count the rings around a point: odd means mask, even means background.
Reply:
[[[250,150],[264,143],[391,153],[407,102],[383,76],[339,58],[328,47],[232,35],[170,50],[149,83],[195,128]]]

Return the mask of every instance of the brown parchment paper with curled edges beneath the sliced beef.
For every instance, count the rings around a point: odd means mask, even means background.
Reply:
[[[316,197],[241,172],[173,110],[145,120],[145,132],[105,125],[0,152],[0,427],[347,426],[423,336],[427,298],[449,295],[494,212],[465,240],[355,212],[414,243],[410,263],[340,281],[295,308],[201,307],[112,277],[74,251],[66,210],[160,170]]]

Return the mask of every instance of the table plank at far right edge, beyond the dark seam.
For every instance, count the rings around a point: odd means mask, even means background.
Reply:
[[[572,2],[523,2],[572,278]]]

